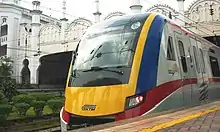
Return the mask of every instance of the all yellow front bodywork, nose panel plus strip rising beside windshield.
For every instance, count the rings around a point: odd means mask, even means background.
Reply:
[[[129,84],[98,87],[66,87],[65,110],[81,116],[103,116],[124,111],[126,97],[136,91],[138,73],[145,41],[155,14],[151,14],[142,28],[134,55]],[[69,81],[69,76],[68,76]],[[94,111],[83,111],[83,105],[96,105]]]

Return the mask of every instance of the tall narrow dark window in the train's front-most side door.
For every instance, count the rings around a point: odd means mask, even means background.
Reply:
[[[180,52],[180,59],[183,67],[183,72],[187,72],[187,64],[186,64],[186,57],[185,57],[185,51],[182,41],[178,41],[179,45],[179,52]]]

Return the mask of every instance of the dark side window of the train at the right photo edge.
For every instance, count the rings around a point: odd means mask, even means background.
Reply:
[[[209,56],[211,69],[212,69],[212,75],[213,77],[220,77],[220,71],[219,71],[219,65],[218,65],[218,59],[212,56]]]

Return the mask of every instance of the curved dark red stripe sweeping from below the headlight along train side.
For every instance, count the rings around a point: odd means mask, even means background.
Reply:
[[[151,110],[156,104],[160,103],[164,98],[173,93],[175,90],[181,88],[181,86],[195,83],[197,83],[197,79],[191,78],[185,80],[175,80],[161,84],[147,92],[145,102],[142,105],[117,115],[115,120],[117,121],[140,116]]]

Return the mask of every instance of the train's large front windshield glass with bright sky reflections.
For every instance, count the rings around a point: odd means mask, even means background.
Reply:
[[[134,24],[141,26],[140,22]],[[80,43],[73,69],[131,65],[137,31],[129,26],[110,27],[86,34]]]

